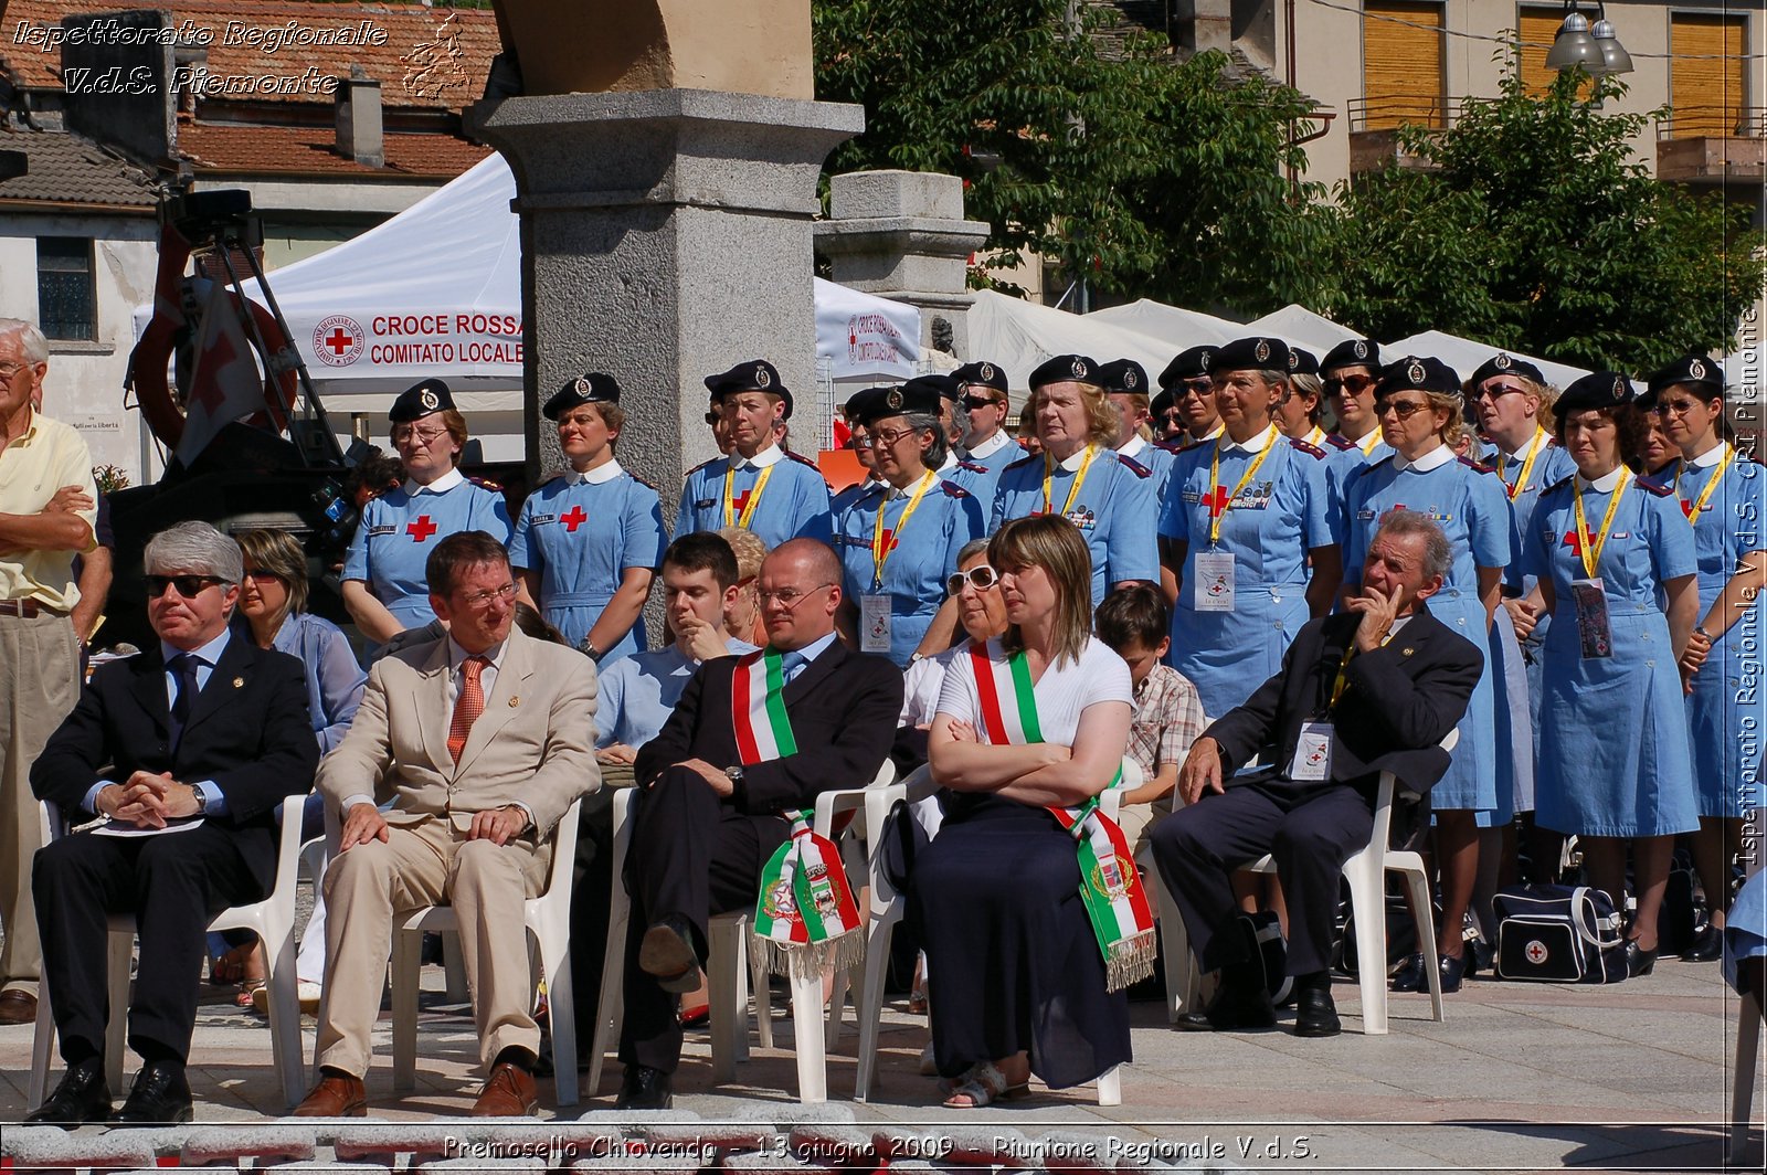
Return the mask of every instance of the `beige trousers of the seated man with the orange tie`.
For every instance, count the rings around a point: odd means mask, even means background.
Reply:
[[[541,1050],[523,903],[541,892],[551,845],[523,838],[507,845],[468,841],[470,815],[391,825],[387,843],[369,841],[332,857],[325,869],[325,995],[318,1062],[364,1076],[369,1034],[380,1018],[382,977],[392,952],[392,917],[452,905],[459,954],[472,989],[479,1058]]]

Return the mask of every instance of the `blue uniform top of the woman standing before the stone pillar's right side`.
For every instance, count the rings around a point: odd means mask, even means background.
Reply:
[[[763,477],[765,484],[762,484]],[[726,479],[732,498],[728,511],[724,509]],[[760,498],[755,502],[749,521],[744,523],[742,512],[756,486],[762,486]],[[834,519],[829,514],[829,482],[822,479],[822,470],[816,468],[815,461],[786,452],[779,445],[762,449],[753,461],[739,452],[732,452],[728,458],[712,458],[687,474],[687,484],[680,491],[675,534],[723,530],[724,527],[753,530],[769,551],[786,539],[827,542],[834,535]]]

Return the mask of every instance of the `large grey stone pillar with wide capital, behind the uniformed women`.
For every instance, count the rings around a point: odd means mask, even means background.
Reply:
[[[516,177],[535,484],[562,466],[539,405],[587,369],[620,382],[620,463],[670,521],[684,474],[716,456],[703,376],[765,357],[815,412],[816,178],[862,108],[675,88],[509,97],[472,118]]]

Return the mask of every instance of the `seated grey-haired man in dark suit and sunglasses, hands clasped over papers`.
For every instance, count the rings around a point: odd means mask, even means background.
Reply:
[[[209,921],[270,891],[277,806],[313,788],[318,763],[300,661],[228,631],[239,544],[180,523],[147,544],[145,565],[159,647],[101,666],[30,772],[37,799],[69,822],[108,818],[44,846],[32,873],[67,1074],[27,1120],[69,1129],[111,1111],[111,913],[134,915],[141,936],[129,1007],[141,1071],[111,1120],[191,1120],[184,1058]]]

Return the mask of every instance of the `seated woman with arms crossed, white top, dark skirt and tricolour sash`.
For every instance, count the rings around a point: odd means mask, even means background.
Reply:
[[[1060,516],[1014,519],[988,562],[1007,631],[945,673],[928,742],[951,797],[908,894],[949,1108],[1021,1097],[1032,1074],[1062,1088],[1127,1062],[1122,989],[1154,963],[1122,830],[1094,811],[1119,781],[1133,691],[1090,631],[1087,541]]]

